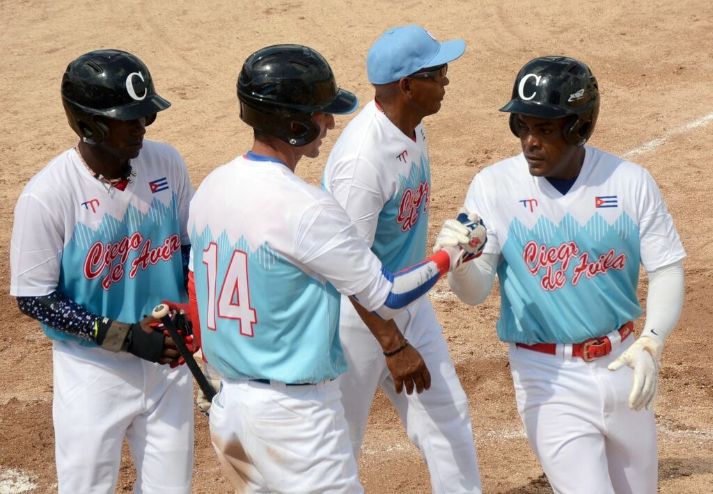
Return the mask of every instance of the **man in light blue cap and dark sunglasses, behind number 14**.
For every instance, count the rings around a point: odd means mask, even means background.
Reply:
[[[441,108],[448,63],[465,48],[463,40],[439,43],[420,26],[386,31],[366,56],[374,101],[347,125],[327,160],[322,186],[393,272],[426,253],[431,161],[421,120]],[[480,493],[468,398],[431,302],[419,299],[394,321],[431,369],[427,392],[399,393],[381,349],[342,297],[340,338],[349,371],[339,386],[354,456],[359,457],[371,402],[381,387],[428,465],[433,492]]]

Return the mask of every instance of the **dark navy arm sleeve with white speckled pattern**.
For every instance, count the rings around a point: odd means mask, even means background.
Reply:
[[[17,297],[17,305],[23,314],[57,331],[96,341],[95,324],[101,318],[60,292],[41,297]]]

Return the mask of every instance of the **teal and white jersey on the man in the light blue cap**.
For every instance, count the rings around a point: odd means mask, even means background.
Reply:
[[[423,124],[411,139],[369,102],[329,153],[322,187],[386,269],[398,272],[426,257],[431,165]]]

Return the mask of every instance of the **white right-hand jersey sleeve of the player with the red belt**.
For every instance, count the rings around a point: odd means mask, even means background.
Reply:
[[[659,187],[647,170],[643,170],[642,200],[639,202],[641,263],[647,271],[672,264],[686,256],[673,218]]]

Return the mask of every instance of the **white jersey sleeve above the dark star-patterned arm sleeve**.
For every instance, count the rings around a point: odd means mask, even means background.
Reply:
[[[39,297],[57,289],[64,249],[61,211],[23,192],[15,207],[10,241],[10,294]]]

